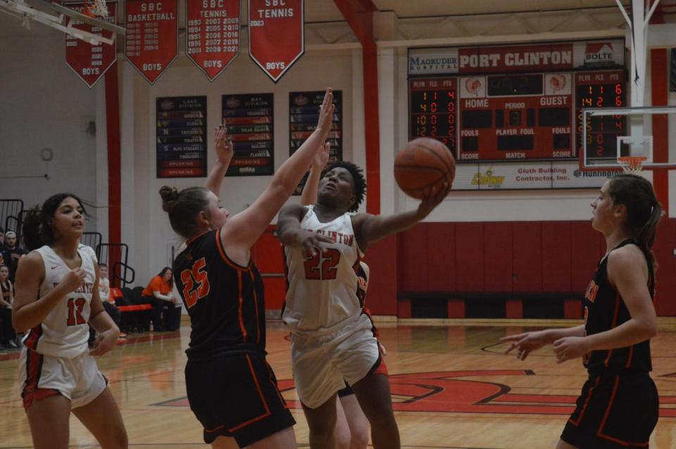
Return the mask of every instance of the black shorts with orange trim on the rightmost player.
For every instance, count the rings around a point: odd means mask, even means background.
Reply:
[[[659,400],[646,374],[589,377],[561,439],[580,449],[648,448]]]

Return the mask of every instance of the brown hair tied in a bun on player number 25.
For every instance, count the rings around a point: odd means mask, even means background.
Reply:
[[[209,207],[208,189],[189,187],[178,191],[175,187],[162,186],[162,210],[169,214],[172,229],[180,236],[189,239],[199,232],[196,218]]]

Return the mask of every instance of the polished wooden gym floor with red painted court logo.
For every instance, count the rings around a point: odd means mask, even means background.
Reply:
[[[504,324],[382,325],[396,419],[403,448],[553,448],[585,379],[580,360],[557,365],[551,347],[525,362],[503,355],[501,336],[530,329]],[[189,327],[132,334],[99,367],[111,380],[130,448],[206,448],[185,399],[183,368]],[[268,324],[268,360],[298,424],[300,448],[308,428],[296,401],[289,342],[279,323]],[[653,379],[661,418],[651,447],[676,447],[676,333],[653,340]],[[18,396],[18,353],[0,353],[0,448],[30,448]],[[72,448],[98,448],[71,417]]]

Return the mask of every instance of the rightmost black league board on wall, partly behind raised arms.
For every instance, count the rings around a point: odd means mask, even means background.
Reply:
[[[289,156],[303,144],[317,128],[320,106],[325,91],[289,92]],[[343,160],[343,92],[333,91],[333,113],[331,130],[327,142],[331,144],[329,163]],[[300,195],[305,186],[307,175],[303,177],[294,194]]]

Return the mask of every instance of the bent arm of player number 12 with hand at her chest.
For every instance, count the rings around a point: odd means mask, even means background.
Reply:
[[[22,258],[16,270],[12,324],[17,332],[23,333],[46,320],[47,315],[71,291],[84,284],[82,268],[75,268],[66,274],[53,290],[39,297],[40,284],[44,279],[42,256],[33,251]]]

